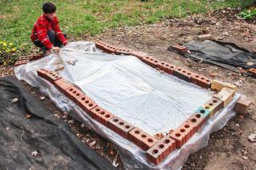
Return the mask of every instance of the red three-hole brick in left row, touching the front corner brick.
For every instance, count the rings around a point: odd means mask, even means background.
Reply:
[[[154,136],[150,136],[150,134],[143,132],[140,128],[132,129],[129,132],[128,138],[145,151],[151,148],[157,142],[157,140],[154,139]]]

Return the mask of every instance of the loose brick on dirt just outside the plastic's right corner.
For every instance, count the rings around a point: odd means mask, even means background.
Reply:
[[[242,95],[240,99],[234,106],[234,111],[241,114],[246,114],[252,101],[250,101],[246,96]]]

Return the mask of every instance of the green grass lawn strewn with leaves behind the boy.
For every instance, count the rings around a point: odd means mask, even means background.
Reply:
[[[41,0],[0,0],[0,41],[13,42],[22,52],[33,48],[30,33],[42,14]],[[221,7],[240,6],[240,0],[62,0],[57,5],[60,26],[68,36],[102,33],[118,26],[158,22],[162,18],[182,18]]]

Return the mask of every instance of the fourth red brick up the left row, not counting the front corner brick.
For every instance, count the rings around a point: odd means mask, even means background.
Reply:
[[[83,95],[82,97],[77,98],[77,104],[90,116],[91,110],[97,107],[98,105],[90,99],[90,97],[87,97],[86,95]]]

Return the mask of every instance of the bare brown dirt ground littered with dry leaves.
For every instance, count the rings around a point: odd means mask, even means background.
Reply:
[[[210,77],[214,73],[215,78],[228,81],[232,84],[242,80],[242,86],[238,87],[238,93],[245,94],[255,103],[256,79],[243,76],[239,73],[222,69],[216,65],[187,60],[185,57],[166,50],[170,45],[184,43],[198,34],[210,33],[214,38],[224,42],[234,42],[239,46],[254,51],[256,42],[248,42],[256,32],[254,23],[244,22],[235,17],[236,10],[220,10],[209,14],[194,14],[185,19],[170,19],[158,22],[154,25],[120,27],[114,30],[106,30],[105,33],[96,37],[81,37],[86,41],[109,42],[117,46],[126,46],[130,49],[140,50],[158,58],[168,61],[174,65],[190,69],[194,73],[200,73]],[[0,67],[0,75],[13,73],[13,67]],[[22,82],[36,97],[43,96],[42,93]],[[111,162],[117,154],[113,144],[102,139],[90,129],[84,127],[78,121],[72,123],[71,117],[66,117],[61,110],[46,97],[44,101],[52,110],[55,117],[69,122],[70,128],[85,144],[96,144],[91,146],[106,160]],[[256,132],[256,106],[250,107],[246,115],[237,114],[228,124],[210,135],[209,144],[192,154],[184,164],[183,169],[255,169],[256,168],[256,145],[248,140],[252,132]],[[107,146],[107,147],[106,147]],[[104,149],[103,149],[104,148]],[[119,158],[118,158],[119,159]],[[118,160],[118,168],[122,169],[122,161]]]

